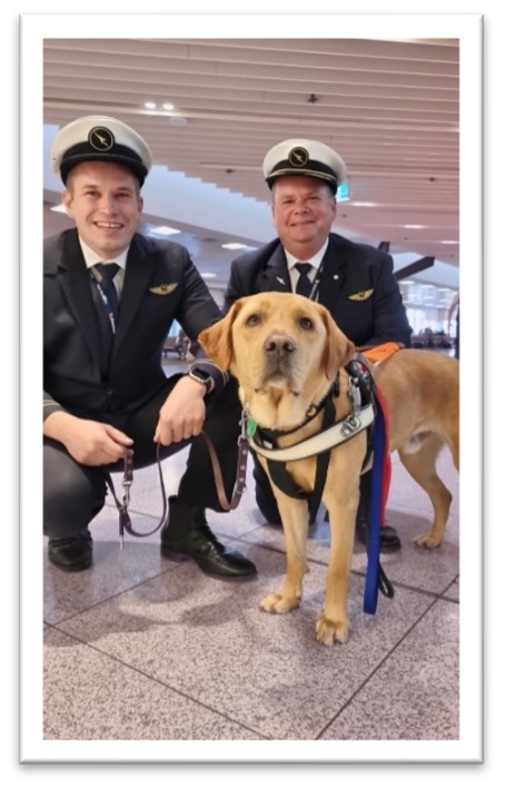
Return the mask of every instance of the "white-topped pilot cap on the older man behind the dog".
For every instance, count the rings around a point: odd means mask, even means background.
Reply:
[[[315,139],[286,139],[269,150],[264,159],[264,177],[269,188],[276,178],[307,175],[319,178],[336,194],[346,180],[346,165],[339,154]]]

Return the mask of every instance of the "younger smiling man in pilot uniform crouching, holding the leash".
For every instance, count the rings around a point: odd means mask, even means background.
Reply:
[[[187,555],[216,575],[248,575],[254,564],[210,531],[206,508],[224,511],[204,441],[220,459],[230,500],[240,408],[234,385],[206,358],[167,377],[162,347],[177,321],[187,336],[221,313],[188,252],[137,232],[140,189],[151,167],[146,141],[109,117],[79,118],[51,150],[75,229],[43,248],[43,526],[48,555],[66,571],[92,562],[90,523],[110,471],[190,446],[178,494],[169,499],[161,553]]]

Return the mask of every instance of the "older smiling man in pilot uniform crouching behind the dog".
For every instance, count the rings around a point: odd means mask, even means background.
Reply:
[[[347,178],[343,158],[312,139],[286,139],[264,159],[272,194],[278,238],[234,260],[225,309],[242,296],[267,290],[296,292],[326,306],[339,328],[357,345],[385,342],[409,345],[411,328],[394,276],[391,257],[373,246],[333,233],[336,193]],[[255,457],[258,506],[268,522],[280,522],[268,479]],[[367,541],[370,473],[363,475],[357,535]],[[381,549],[398,550],[390,525],[381,530]]]

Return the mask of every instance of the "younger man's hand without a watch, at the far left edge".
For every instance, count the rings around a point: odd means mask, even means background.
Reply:
[[[62,411],[48,416],[43,424],[46,437],[59,441],[82,465],[108,465],[125,456],[133,441],[110,424],[78,418]]]

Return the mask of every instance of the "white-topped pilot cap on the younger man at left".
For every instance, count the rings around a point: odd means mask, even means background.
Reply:
[[[142,137],[121,120],[89,115],[63,126],[51,146],[53,171],[67,183],[69,171],[81,161],[111,161],[128,167],[140,186],[151,169],[152,157]]]

